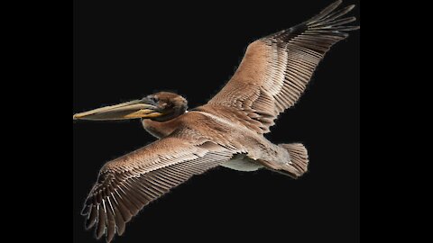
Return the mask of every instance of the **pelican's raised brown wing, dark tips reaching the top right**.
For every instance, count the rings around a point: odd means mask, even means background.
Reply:
[[[297,103],[327,50],[348,37],[345,31],[359,28],[345,25],[355,21],[343,18],[355,5],[336,10],[341,2],[305,23],[251,43],[235,75],[207,105],[242,111],[259,133],[269,132],[277,116]]]

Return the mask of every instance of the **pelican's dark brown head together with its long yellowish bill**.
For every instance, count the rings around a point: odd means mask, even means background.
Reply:
[[[169,121],[185,113],[187,100],[179,94],[159,92],[127,103],[106,106],[89,112],[77,113],[74,120],[116,121],[129,119],[151,119]]]

